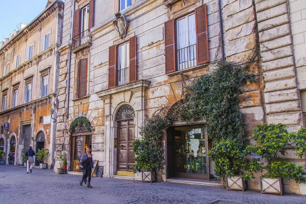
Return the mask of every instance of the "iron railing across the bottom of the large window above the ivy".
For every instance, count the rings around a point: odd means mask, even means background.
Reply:
[[[177,50],[177,71],[196,66],[196,44]]]

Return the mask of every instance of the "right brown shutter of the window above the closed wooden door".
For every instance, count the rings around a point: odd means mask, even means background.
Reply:
[[[137,53],[137,37],[130,38],[130,70],[129,70],[129,82],[135,82],[137,80],[137,68],[136,68],[136,53]]]

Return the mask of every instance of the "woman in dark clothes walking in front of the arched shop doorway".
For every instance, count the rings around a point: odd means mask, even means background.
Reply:
[[[83,166],[83,177],[80,185],[82,186],[83,182],[86,184],[86,180],[88,177],[87,188],[92,188],[92,186],[90,186],[90,180],[91,180],[91,169],[93,167],[93,161],[92,161],[90,147],[86,148],[86,154],[81,158],[81,165]]]

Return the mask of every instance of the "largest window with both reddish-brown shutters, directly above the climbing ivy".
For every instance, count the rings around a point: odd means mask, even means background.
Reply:
[[[209,62],[206,4],[165,22],[166,73]]]

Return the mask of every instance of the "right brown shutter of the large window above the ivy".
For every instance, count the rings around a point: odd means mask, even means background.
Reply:
[[[206,4],[195,9],[196,63],[209,62]]]

